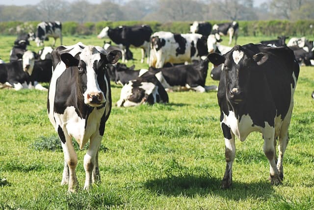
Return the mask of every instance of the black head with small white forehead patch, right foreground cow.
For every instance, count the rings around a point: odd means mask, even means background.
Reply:
[[[221,79],[225,79],[226,96],[232,104],[239,104],[246,97],[249,78],[254,71],[260,71],[258,66],[267,59],[266,53],[252,54],[241,46],[236,45],[229,53],[220,55],[211,53],[208,55],[209,61],[214,66],[222,65]]]

